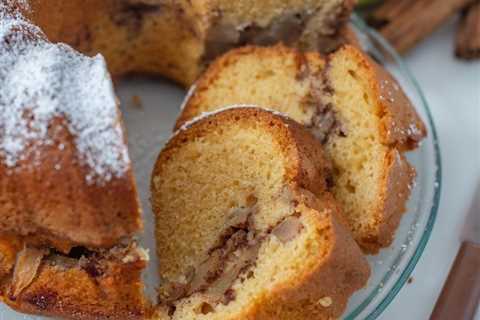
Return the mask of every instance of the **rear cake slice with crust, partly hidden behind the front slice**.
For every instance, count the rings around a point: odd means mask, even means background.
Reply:
[[[284,46],[240,48],[200,77],[176,127],[230,104],[267,106],[309,128],[333,162],[331,188],[356,241],[370,253],[390,244],[415,176],[403,151],[426,133],[391,75],[351,46],[326,60]]]

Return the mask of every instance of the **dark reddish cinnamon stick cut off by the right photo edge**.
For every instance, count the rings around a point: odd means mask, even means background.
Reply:
[[[480,0],[469,5],[462,13],[455,54],[467,60],[480,58]]]

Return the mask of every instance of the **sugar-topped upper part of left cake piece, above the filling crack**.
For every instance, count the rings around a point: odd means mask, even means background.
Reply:
[[[112,83],[88,58],[0,7],[0,233],[61,251],[141,230]]]

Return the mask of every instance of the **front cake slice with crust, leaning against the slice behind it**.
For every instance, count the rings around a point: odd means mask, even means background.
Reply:
[[[321,145],[254,107],[186,124],[152,174],[159,319],[334,319],[369,266]]]

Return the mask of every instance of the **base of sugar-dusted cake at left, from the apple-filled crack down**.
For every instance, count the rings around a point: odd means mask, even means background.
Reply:
[[[72,250],[63,255],[25,247],[0,293],[13,309],[68,319],[146,319],[144,251],[131,243],[110,250]]]

